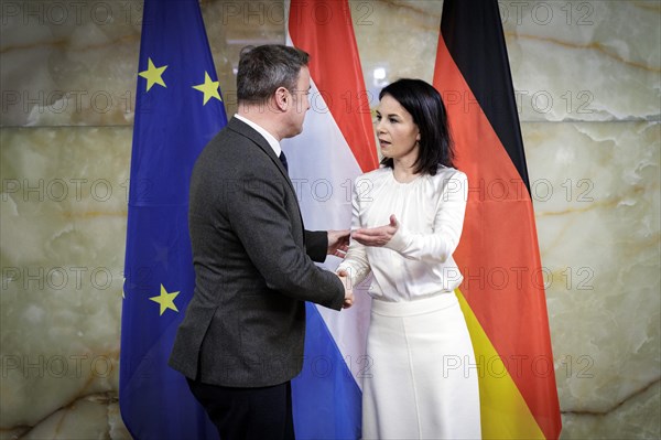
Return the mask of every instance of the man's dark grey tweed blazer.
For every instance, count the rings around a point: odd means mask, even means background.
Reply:
[[[303,363],[304,301],[339,310],[344,300],[312,259],[325,258],[326,234],[304,230],[280,160],[236,118],[197,159],[189,203],[195,292],[170,366],[221,386],[290,380]]]

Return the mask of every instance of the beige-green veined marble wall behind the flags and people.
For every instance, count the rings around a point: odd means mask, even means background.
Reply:
[[[0,439],[130,438],[117,389],[142,2],[0,4]],[[660,438],[661,3],[499,4],[562,438]],[[202,6],[231,114],[238,51],[284,41],[282,2]],[[350,9],[368,89],[431,82],[441,1]]]

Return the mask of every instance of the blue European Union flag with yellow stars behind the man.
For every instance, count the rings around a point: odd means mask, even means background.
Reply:
[[[145,0],[121,319],[119,404],[136,439],[217,438],[167,366],[193,296],[188,185],[227,116],[197,0]]]

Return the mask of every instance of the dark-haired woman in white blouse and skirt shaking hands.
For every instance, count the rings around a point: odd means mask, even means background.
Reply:
[[[441,95],[400,79],[379,95],[383,160],[356,181],[351,245],[337,272],[373,273],[362,389],[365,439],[480,438],[477,369],[452,257],[466,208]]]

